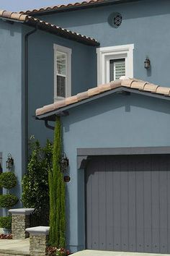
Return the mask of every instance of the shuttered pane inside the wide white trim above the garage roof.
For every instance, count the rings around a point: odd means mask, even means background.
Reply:
[[[109,61],[109,80],[119,80],[125,76],[125,59],[111,59]]]

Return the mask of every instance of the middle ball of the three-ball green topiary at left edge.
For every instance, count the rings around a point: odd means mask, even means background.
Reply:
[[[18,201],[18,197],[15,195],[0,195],[0,208],[12,208]]]

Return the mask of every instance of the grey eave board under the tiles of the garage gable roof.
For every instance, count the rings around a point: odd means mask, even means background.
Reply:
[[[125,88],[125,87],[121,86],[120,88],[115,88],[114,90],[108,90],[104,93],[94,95],[91,98],[86,98],[86,99],[84,99],[82,101],[79,101],[77,103],[73,103],[71,105],[64,106],[62,108],[58,108],[54,111],[49,111],[48,113],[41,114],[39,116],[35,116],[35,119],[55,121],[56,116],[64,116],[63,113],[68,112],[71,108],[75,108],[76,106],[81,106],[82,104],[89,103],[91,101],[95,101],[95,100],[97,100],[99,98],[102,98],[104,96],[111,95],[113,93],[120,93],[120,92],[137,93],[137,94],[140,94],[140,95],[146,95],[146,96],[149,96],[149,97],[161,98],[161,99],[170,101],[170,97],[168,95],[160,95],[160,94],[146,92],[146,91],[142,91],[142,90],[137,90],[137,89],[132,89],[132,88]]]

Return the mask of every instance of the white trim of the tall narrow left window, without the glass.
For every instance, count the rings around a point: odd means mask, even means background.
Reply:
[[[63,100],[63,97],[57,96],[57,51],[61,51],[66,54],[66,97],[71,96],[71,48],[65,46],[59,46],[58,44],[53,45],[54,49],[54,101]]]

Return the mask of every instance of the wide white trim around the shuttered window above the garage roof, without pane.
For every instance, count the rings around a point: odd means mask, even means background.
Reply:
[[[134,44],[97,48],[97,84],[109,82],[109,60],[125,59],[125,76],[133,77]]]

